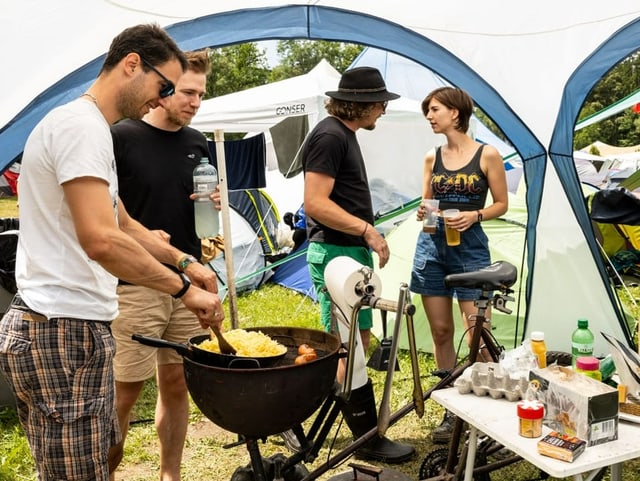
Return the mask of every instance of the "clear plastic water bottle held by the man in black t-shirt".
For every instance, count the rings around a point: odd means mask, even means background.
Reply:
[[[213,206],[209,195],[218,185],[218,171],[203,157],[193,169],[193,192],[196,197],[193,208],[196,221],[196,235],[200,239],[215,237],[220,230],[218,211]]]

